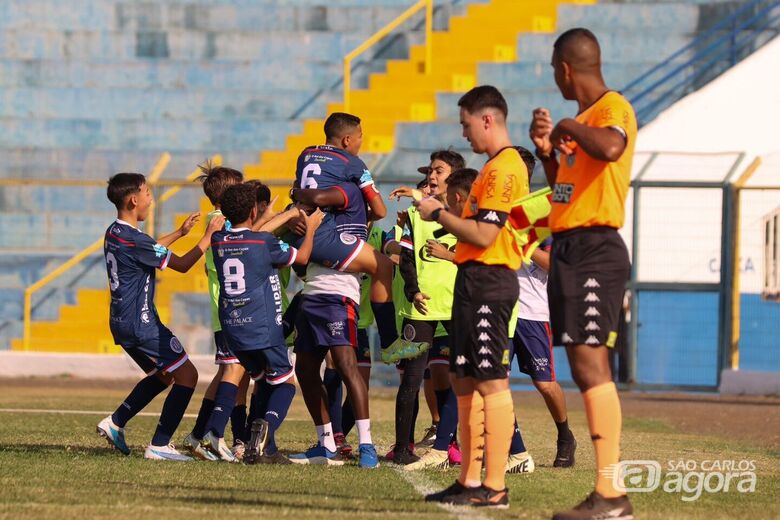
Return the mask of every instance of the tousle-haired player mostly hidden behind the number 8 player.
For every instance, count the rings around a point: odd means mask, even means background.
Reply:
[[[208,224],[215,217],[221,217],[222,211],[220,211],[220,199],[225,190],[234,184],[239,184],[244,180],[244,175],[232,168],[224,166],[212,166],[210,163],[199,166],[201,175],[198,177],[198,181],[203,185],[203,192],[208,197],[211,204],[214,206],[214,210],[206,215],[206,223]],[[230,222],[225,222],[225,227],[230,229]],[[218,457],[226,460],[232,460],[233,454],[220,453],[215,455],[204,446],[201,445],[203,437],[206,435],[207,426],[214,406],[217,401],[224,400],[224,393],[226,392],[227,385],[230,385],[230,380],[236,378],[241,379],[244,369],[238,363],[238,358],[230,351],[230,348],[225,341],[225,336],[222,333],[222,326],[219,323],[219,281],[217,280],[217,271],[214,267],[214,254],[211,248],[206,250],[206,276],[208,277],[209,284],[209,296],[211,297],[211,326],[214,330],[214,344],[216,345],[216,354],[214,356],[214,363],[217,365],[217,373],[206,388],[206,393],[203,396],[200,409],[198,410],[198,416],[195,419],[195,426],[192,431],[184,438],[184,447],[190,450],[193,456],[202,460],[217,460]],[[239,374],[239,372],[241,374]],[[223,378],[225,379],[223,381]],[[220,386],[222,391],[219,391]],[[219,396],[219,397],[218,397]],[[224,413],[224,407],[219,405],[219,412],[217,415]],[[246,407],[244,407],[246,409]],[[246,421],[246,419],[244,419]],[[235,422],[235,421],[234,421]],[[217,445],[219,447],[219,445]],[[222,457],[224,455],[224,457]]]

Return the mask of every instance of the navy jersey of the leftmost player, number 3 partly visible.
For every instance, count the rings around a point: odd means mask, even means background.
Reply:
[[[155,271],[165,269],[171,252],[127,222],[106,230],[103,253],[111,289],[110,326],[114,341],[129,345],[158,334],[154,306]]]

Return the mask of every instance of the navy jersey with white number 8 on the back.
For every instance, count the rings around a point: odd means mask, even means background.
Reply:
[[[214,233],[211,250],[219,279],[219,321],[230,348],[284,345],[277,268],[292,265],[298,250],[271,233],[247,228]]]

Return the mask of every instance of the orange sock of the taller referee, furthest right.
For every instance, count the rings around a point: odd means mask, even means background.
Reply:
[[[590,437],[596,451],[596,491],[606,498],[623,495],[612,486],[612,479],[602,473],[620,459],[622,416],[615,383],[604,383],[582,393],[588,416]]]

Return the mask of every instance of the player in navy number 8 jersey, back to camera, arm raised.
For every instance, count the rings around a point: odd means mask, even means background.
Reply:
[[[323,214],[315,212],[306,217],[306,236],[298,250],[268,232],[252,231],[258,216],[257,195],[256,187],[248,184],[225,190],[222,212],[232,227],[215,233],[211,247],[215,251],[219,319],[225,339],[255,384],[263,386],[253,395],[258,400],[255,405],[258,417],[264,417],[260,419],[262,434],[257,439],[258,446],[250,442],[247,462],[286,464],[289,461],[279,454],[275,433],[290,408],[295,386],[289,381],[294,372],[282,332],[282,286],[277,268],[294,263],[305,265],[309,261],[314,232]],[[213,435],[224,444],[219,434],[224,434],[230,415],[228,408],[235,403],[239,380],[240,375],[227,383],[230,391],[225,392],[220,402],[226,413],[219,423],[212,414],[211,424],[216,431],[211,430],[204,442]],[[226,383],[220,387],[223,385]]]

